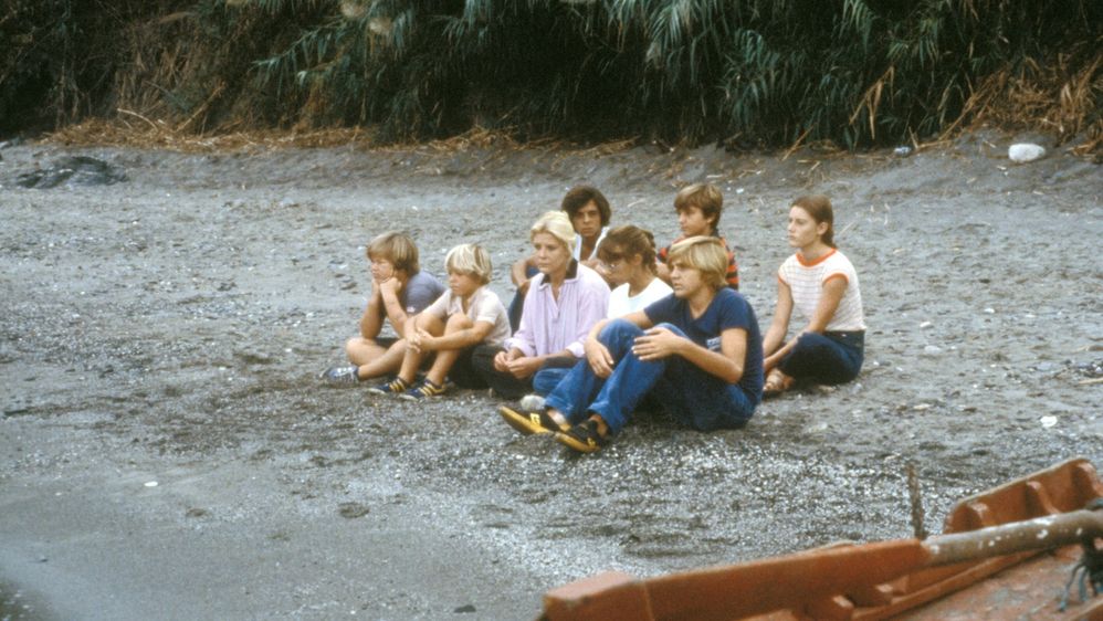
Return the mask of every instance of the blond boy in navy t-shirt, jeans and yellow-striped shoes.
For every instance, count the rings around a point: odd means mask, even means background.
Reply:
[[[761,335],[755,312],[727,287],[727,253],[694,236],[670,252],[673,295],[593,326],[586,360],[539,412],[498,410],[522,433],[555,433],[584,453],[598,451],[653,392],[671,415],[700,431],[743,427],[763,396]]]

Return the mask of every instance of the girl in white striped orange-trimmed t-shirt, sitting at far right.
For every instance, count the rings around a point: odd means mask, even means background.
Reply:
[[[797,252],[778,270],[777,310],[763,339],[766,397],[798,379],[843,383],[862,368],[862,294],[854,266],[836,249],[833,222],[824,196],[800,197],[789,208],[789,245]],[[807,325],[786,341],[794,308]]]

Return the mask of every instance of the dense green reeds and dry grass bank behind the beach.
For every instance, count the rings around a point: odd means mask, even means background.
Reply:
[[[1103,134],[1099,0],[7,0],[0,133],[474,127],[729,145]],[[140,120],[138,120],[140,119]]]

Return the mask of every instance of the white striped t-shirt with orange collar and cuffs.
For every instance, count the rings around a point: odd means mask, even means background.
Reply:
[[[855,331],[865,329],[862,313],[862,293],[858,287],[858,272],[844,254],[832,249],[812,263],[805,263],[800,254],[785,260],[777,271],[777,277],[789,285],[792,306],[806,322],[816,315],[816,306],[823,295],[823,283],[831,278],[845,278],[847,291],[839,301],[834,316],[828,322],[824,331]]]

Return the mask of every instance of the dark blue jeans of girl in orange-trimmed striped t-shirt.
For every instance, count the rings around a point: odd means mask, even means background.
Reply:
[[[805,333],[778,368],[785,375],[816,383],[845,383],[862,370],[864,331]]]

